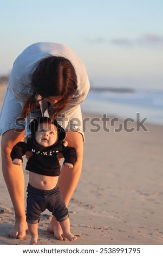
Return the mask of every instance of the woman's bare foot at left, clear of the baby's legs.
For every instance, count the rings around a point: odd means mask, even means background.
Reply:
[[[28,230],[27,222],[16,218],[15,226],[9,231],[9,236],[16,239],[24,239]]]

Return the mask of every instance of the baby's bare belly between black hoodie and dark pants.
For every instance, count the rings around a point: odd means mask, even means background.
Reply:
[[[29,172],[29,183],[40,190],[50,190],[57,185],[58,176],[45,176]]]

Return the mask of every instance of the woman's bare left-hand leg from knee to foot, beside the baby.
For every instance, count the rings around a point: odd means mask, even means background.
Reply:
[[[24,175],[21,166],[12,164],[12,147],[24,138],[24,132],[6,131],[2,135],[2,170],[6,186],[15,210],[15,227],[9,232],[11,237],[23,239],[27,223],[24,204]]]

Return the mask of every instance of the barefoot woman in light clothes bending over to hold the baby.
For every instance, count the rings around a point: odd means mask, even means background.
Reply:
[[[69,200],[79,181],[83,155],[82,114],[80,104],[89,91],[86,69],[67,46],[38,42],[27,47],[15,60],[0,115],[2,135],[2,170],[15,210],[11,237],[24,239],[27,223],[24,206],[24,175],[20,166],[11,162],[14,145],[29,135],[31,118],[48,111],[67,131],[66,141],[77,152],[74,168],[62,166],[58,181],[64,202]],[[20,119],[25,120],[20,123]],[[28,156],[27,156],[28,157]],[[48,231],[63,240],[60,224],[53,217]]]

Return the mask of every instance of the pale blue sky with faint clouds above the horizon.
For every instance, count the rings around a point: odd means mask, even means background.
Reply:
[[[69,46],[92,87],[163,90],[162,0],[3,0],[0,75],[39,41]]]

